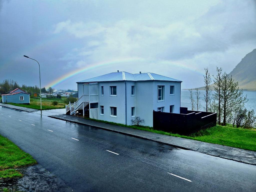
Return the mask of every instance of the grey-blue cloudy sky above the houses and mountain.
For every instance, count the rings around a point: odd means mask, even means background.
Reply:
[[[76,89],[114,71],[154,72],[203,85],[256,48],[252,1],[0,0],[0,81]],[[57,83],[57,84],[56,84]]]

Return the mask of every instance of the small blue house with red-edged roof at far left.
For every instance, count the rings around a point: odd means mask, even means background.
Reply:
[[[14,89],[9,94],[2,95],[3,103],[30,103],[29,93],[20,88]]]

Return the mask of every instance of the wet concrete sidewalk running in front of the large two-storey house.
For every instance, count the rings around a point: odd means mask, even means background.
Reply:
[[[216,157],[221,157],[221,158],[230,159],[233,161],[256,165],[256,152],[254,151],[243,150],[239,148],[228,147],[228,146],[212,144],[212,143],[205,143],[205,142],[185,139],[181,137],[161,135],[161,134],[152,133],[148,131],[132,129],[129,127],[122,127],[122,126],[92,121],[92,120],[80,118],[77,116],[66,115],[66,114],[51,115],[49,117],[64,120],[64,121],[69,121],[73,123],[78,123],[82,125],[98,127],[100,129],[121,133],[129,136],[133,136],[133,137],[143,138],[146,140],[163,143],[166,145],[171,145],[171,146],[175,146],[175,147],[186,149],[186,150],[197,151],[200,153],[205,153],[205,154],[216,156]]]

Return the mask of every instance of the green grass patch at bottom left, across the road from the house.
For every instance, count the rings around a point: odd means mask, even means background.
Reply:
[[[36,164],[36,160],[0,135],[0,178],[21,177],[15,168]]]

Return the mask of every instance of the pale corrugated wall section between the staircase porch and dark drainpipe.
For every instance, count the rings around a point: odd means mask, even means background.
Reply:
[[[104,95],[101,95],[101,86],[104,86]],[[110,86],[116,86],[116,96],[110,96]],[[100,82],[99,83],[99,108],[104,106],[104,115],[99,115],[100,120],[125,124],[125,83]],[[110,116],[110,106],[116,107],[116,117]]]

